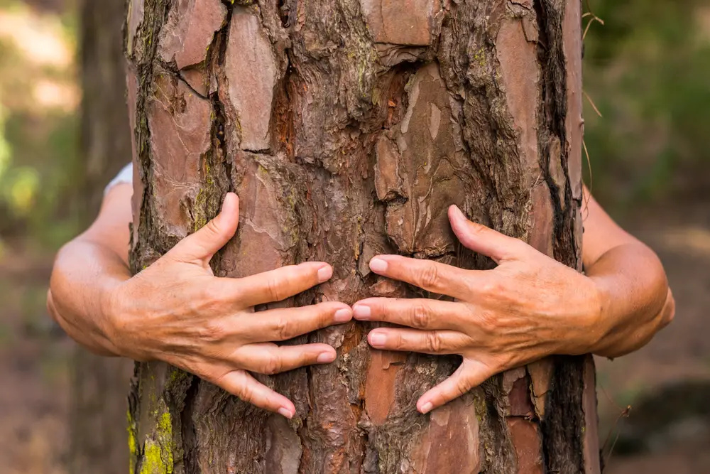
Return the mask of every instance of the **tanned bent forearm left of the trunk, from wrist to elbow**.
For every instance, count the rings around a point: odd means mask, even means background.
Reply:
[[[111,291],[131,276],[124,258],[99,242],[78,237],[57,255],[47,306],[71,338],[99,355],[119,355],[111,341]]]

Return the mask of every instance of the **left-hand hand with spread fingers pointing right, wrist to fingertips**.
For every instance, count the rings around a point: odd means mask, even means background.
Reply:
[[[290,418],[295,406],[249,372],[275,374],[333,362],[326,344],[276,345],[328,325],[346,323],[344,303],[320,303],[254,313],[331,278],[322,262],[285,266],[241,279],[217,278],[209,260],[239,223],[239,200],[226,195],[222,212],[154,264],[111,291],[111,340],[134,360],[163,360],[219,385],[263,409]]]

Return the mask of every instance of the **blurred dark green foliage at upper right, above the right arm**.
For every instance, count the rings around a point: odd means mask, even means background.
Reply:
[[[603,114],[586,102],[593,193],[616,205],[709,198],[710,1],[585,1],[590,9],[604,21],[584,42],[584,89]]]

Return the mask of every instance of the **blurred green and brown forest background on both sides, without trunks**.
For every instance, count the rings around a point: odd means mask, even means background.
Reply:
[[[86,218],[80,9],[0,0],[6,474],[69,472],[75,348],[50,324],[45,292],[54,252]],[[647,348],[599,360],[607,472],[710,472],[710,0],[585,0],[585,11],[586,183],[660,254],[678,303]]]

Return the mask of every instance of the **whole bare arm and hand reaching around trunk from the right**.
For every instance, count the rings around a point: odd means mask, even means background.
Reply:
[[[457,299],[369,298],[354,306],[358,320],[406,326],[372,330],[368,341],[375,348],[463,356],[452,377],[422,395],[420,411],[548,355],[618,357],[670,323],[674,303],[660,261],[586,197],[586,275],[466,220],[454,207],[449,220],[459,241],[491,257],[495,269],[464,270],[395,255],[371,260],[377,274]]]

